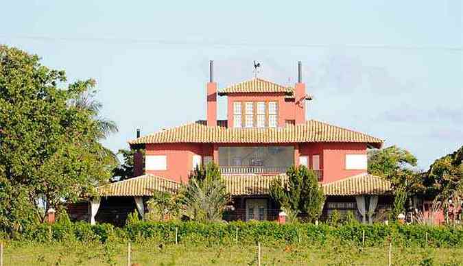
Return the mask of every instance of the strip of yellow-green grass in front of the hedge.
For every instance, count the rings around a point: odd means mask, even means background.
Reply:
[[[4,265],[127,265],[127,243],[5,243]],[[388,265],[388,247],[262,245],[262,265]],[[132,243],[136,265],[257,265],[257,245]],[[393,247],[393,265],[463,265],[463,248]]]

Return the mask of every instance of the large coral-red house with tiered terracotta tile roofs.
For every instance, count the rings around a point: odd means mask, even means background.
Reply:
[[[213,161],[233,195],[224,219],[276,219],[280,209],[269,197],[270,182],[285,182],[288,167],[305,165],[316,171],[327,195],[324,218],[333,210],[352,210],[371,221],[391,203],[390,182],[367,173],[367,149],[383,140],[307,119],[311,96],[301,67],[299,62],[294,87],[253,78],[218,89],[211,61],[206,119],[129,141],[132,149],[145,150],[145,156],[134,156],[135,177],[99,188],[102,199],[90,204],[89,219],[114,221],[135,209],[143,215],[153,190],[175,191],[196,165]],[[227,97],[225,120],[217,119],[217,97]]]

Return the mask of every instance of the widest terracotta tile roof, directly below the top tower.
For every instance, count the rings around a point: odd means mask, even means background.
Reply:
[[[284,128],[228,128],[226,121],[218,121],[217,124],[215,127],[208,127],[205,121],[196,121],[142,136],[129,143],[348,142],[369,143],[374,147],[381,147],[383,143],[380,138],[316,120],[309,120],[301,125],[287,125]]]

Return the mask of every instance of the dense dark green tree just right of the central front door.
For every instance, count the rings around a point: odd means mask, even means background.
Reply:
[[[270,184],[270,196],[287,213],[289,221],[295,221],[299,213],[307,214],[309,221],[315,221],[322,213],[325,196],[318,184],[315,171],[304,165],[290,167],[286,175],[286,186],[281,186],[280,180]]]

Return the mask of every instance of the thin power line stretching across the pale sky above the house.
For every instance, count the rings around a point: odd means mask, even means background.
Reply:
[[[138,44],[138,45],[196,45],[211,47],[287,47],[287,48],[349,48],[349,49],[384,49],[384,50],[423,50],[423,51],[453,51],[461,52],[461,46],[404,46],[404,45],[365,45],[365,44],[294,44],[294,43],[226,43],[208,40],[163,40],[163,39],[139,39],[139,38],[68,38],[50,36],[8,36],[0,35],[0,38],[11,38],[20,40],[43,40],[43,41],[64,41],[64,42],[85,42],[85,43],[107,43],[107,44]]]

